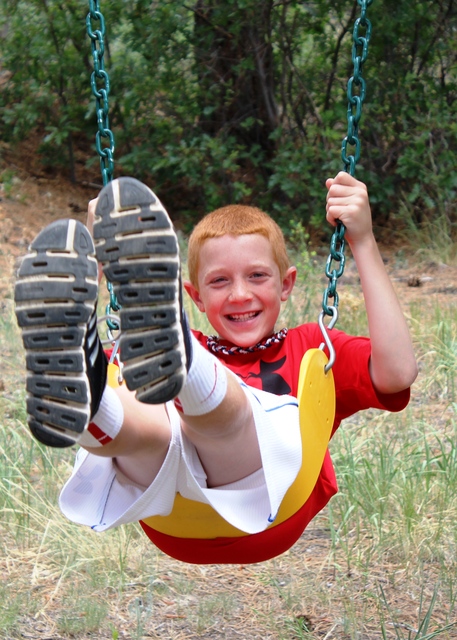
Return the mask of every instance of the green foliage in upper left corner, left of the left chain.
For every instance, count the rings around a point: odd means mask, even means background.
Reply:
[[[78,2],[0,4],[2,87],[0,131],[12,143],[41,132],[40,152],[52,165],[73,167],[73,136],[85,128],[88,55]],[[52,149],[52,154],[51,154]]]

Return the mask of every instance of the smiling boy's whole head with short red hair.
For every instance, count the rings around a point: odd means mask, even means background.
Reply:
[[[243,229],[243,221],[252,222]],[[233,229],[225,233],[230,222]],[[281,303],[295,284],[297,270],[289,266],[284,240],[271,223],[258,209],[224,207],[200,223],[190,240],[186,291],[217,335],[239,347],[252,347],[274,333]],[[270,240],[257,231],[268,227],[277,237]],[[220,228],[223,235],[215,236]],[[275,255],[273,247],[281,251]]]

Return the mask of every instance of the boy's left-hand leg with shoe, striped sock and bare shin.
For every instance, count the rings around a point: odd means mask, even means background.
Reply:
[[[21,263],[14,292],[30,430],[52,447],[78,442],[108,457],[147,452],[148,469],[157,471],[170,439],[168,417],[163,407],[146,411],[127,389],[118,390],[119,400],[105,387],[97,292],[98,265],[84,225],[58,220],[43,229]]]

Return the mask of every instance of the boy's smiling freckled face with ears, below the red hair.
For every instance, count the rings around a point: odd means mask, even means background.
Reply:
[[[198,289],[184,284],[220,338],[250,347],[274,332],[281,302],[296,269],[279,273],[270,242],[260,234],[205,240],[199,255]]]

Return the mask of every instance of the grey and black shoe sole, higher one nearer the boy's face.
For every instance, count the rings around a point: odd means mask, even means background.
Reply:
[[[167,402],[186,379],[188,338],[173,224],[148,187],[119,178],[100,193],[94,242],[121,305],[119,348],[127,387],[141,402]]]

